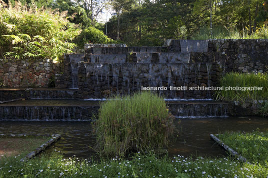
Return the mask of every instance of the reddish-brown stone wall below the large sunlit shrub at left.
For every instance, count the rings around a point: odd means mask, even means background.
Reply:
[[[5,87],[49,87],[59,72],[58,67],[58,63],[49,59],[38,62],[0,59],[0,83]]]

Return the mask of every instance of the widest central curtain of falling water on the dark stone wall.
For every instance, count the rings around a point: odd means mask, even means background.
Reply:
[[[167,98],[209,98],[203,91],[177,89],[189,84],[200,85],[200,81],[209,86],[207,83],[209,71],[207,74],[201,72],[204,69],[200,70],[206,68],[206,63],[84,63],[84,66],[86,69],[84,87],[93,88],[96,92],[106,88],[113,94],[130,94],[140,91],[141,86],[166,86],[165,90],[157,92]],[[212,66],[215,67],[217,64],[208,65],[210,68]]]

